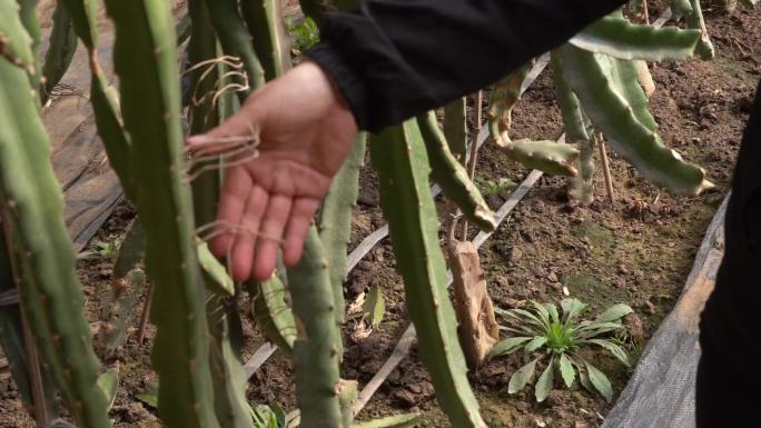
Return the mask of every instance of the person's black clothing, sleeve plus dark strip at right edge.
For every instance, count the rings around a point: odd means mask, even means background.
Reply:
[[[506,76],[621,0],[384,0],[325,20],[308,54],[377,131]],[[725,255],[701,321],[698,426],[761,426],[761,96],[738,160]],[[729,389],[728,389],[729,388]]]

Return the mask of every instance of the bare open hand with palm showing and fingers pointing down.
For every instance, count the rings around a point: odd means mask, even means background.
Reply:
[[[314,62],[254,92],[219,127],[190,137],[188,150],[248,136],[251,127],[259,130],[259,156],[226,169],[211,242],[218,257],[229,255],[235,280],[269,278],[280,243],[286,266],[299,261],[315,211],[357,133],[354,116]]]

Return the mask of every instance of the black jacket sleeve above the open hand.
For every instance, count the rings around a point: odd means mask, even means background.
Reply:
[[[369,0],[329,14],[307,56],[362,129],[445,104],[562,44],[623,0]]]

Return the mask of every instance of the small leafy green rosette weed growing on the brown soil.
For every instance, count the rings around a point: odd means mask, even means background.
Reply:
[[[599,392],[610,402],[613,398],[611,381],[600,369],[584,359],[580,350],[589,346],[606,349],[626,367],[629,355],[623,349],[622,334],[625,327],[621,319],[633,310],[626,305],[614,305],[594,319],[581,317],[587,305],[577,299],[561,301],[562,316],[553,303],[538,303],[531,300],[526,309],[496,309],[507,326],[500,327],[514,337],[500,341],[491,357],[510,355],[523,349],[528,355],[538,355],[531,362],[517,369],[510,379],[508,394],[523,389],[534,377],[536,366],[548,358],[545,369],[536,380],[535,397],[541,402],[547,398],[554,381],[555,367],[560,370],[563,384],[571,388],[579,374],[581,385],[590,392]]]

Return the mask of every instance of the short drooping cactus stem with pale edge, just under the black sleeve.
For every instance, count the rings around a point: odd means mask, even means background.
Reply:
[[[434,181],[442,187],[447,199],[459,207],[468,220],[482,230],[494,230],[496,226],[494,212],[488,208],[478,188],[471,181],[465,167],[449,151],[449,146],[438,128],[436,115],[429,111],[418,117],[417,125],[425,141],[431,176]]]

